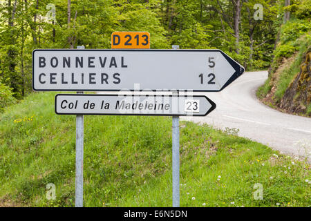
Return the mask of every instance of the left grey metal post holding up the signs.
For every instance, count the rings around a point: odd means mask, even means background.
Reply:
[[[77,46],[84,49],[84,46]],[[78,91],[77,94],[83,94]],[[83,149],[84,149],[84,117],[75,118],[75,207],[83,207]]]

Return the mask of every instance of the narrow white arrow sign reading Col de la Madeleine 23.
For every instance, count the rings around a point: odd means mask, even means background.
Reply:
[[[55,96],[59,115],[165,115],[205,116],[216,104],[205,96],[86,95]]]

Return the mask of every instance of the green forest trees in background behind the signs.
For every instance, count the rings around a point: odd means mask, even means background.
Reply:
[[[298,31],[310,30],[310,8],[308,0],[0,1],[1,108],[32,93],[36,48],[111,48],[114,31],[146,31],[151,48],[218,48],[246,70],[263,70],[283,23],[302,19]]]

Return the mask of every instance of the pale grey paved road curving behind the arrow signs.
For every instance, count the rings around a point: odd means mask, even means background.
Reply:
[[[256,88],[267,79],[267,71],[248,72],[219,93],[207,95],[217,105],[206,117],[181,117],[206,122],[216,128],[238,128],[238,135],[267,144],[290,155],[309,155],[311,161],[311,118],[276,111],[256,98]]]

